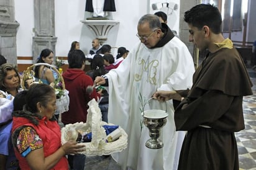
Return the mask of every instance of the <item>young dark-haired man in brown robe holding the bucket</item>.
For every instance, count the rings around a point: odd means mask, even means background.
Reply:
[[[244,62],[229,38],[221,34],[217,7],[199,4],[185,12],[190,42],[209,53],[185,91],[157,91],[160,101],[181,101],[175,110],[176,130],[188,131],[179,170],[239,169],[234,132],[244,129],[243,96],[252,94]],[[185,98],[183,98],[185,97]]]

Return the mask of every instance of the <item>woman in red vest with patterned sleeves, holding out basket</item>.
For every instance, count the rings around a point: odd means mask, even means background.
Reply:
[[[47,84],[32,84],[23,110],[13,113],[12,141],[21,169],[68,169],[66,154],[83,151],[83,145],[61,145],[60,127],[53,118],[56,96]]]

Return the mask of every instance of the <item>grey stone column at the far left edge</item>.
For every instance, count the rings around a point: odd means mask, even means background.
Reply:
[[[7,63],[17,65],[16,35],[19,23],[14,19],[14,0],[0,1],[0,54]]]

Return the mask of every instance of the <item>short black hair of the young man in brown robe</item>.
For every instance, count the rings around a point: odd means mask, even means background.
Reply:
[[[221,13],[211,4],[199,4],[192,7],[185,12],[184,20],[198,29],[207,25],[214,34],[221,33]]]

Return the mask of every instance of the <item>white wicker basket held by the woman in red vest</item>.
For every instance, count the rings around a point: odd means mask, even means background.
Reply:
[[[62,128],[62,144],[72,138],[69,136],[70,130],[75,128],[75,130],[92,133],[91,142],[81,143],[85,145],[86,150],[80,152],[80,154],[86,154],[86,156],[106,155],[121,152],[127,148],[127,133],[121,127],[119,127],[119,130],[121,130],[122,135],[118,140],[106,143],[106,132],[102,126],[112,124],[107,124],[101,120],[101,110],[99,109],[98,102],[96,102],[95,99],[89,101],[88,105],[89,109],[86,123],[80,122],[68,124]],[[75,135],[75,137],[73,137],[73,139],[75,139],[77,133],[73,133],[73,135]]]

